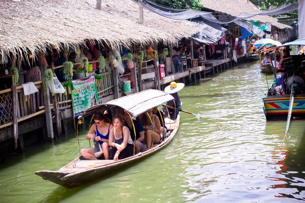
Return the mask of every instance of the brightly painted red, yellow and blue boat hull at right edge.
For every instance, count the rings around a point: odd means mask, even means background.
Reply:
[[[290,95],[268,96],[262,98],[262,101],[267,120],[287,119]],[[305,95],[294,96],[291,116],[305,118]]]

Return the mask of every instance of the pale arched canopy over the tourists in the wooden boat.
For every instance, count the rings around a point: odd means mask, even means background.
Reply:
[[[138,93],[108,101],[106,104],[90,107],[84,111],[82,117],[112,107],[120,107],[128,111],[133,117],[136,117],[148,109],[152,109],[173,99],[174,97],[172,95],[167,94],[164,91],[147,89]]]

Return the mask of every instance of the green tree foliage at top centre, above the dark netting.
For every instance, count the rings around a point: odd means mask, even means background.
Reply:
[[[203,8],[203,5],[200,4],[200,0],[150,0],[156,4],[160,4],[165,7],[173,9],[194,9],[200,10]]]

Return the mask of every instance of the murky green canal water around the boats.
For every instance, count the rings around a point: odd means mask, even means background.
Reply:
[[[173,142],[129,168],[75,189],[36,176],[79,155],[74,134],[26,148],[0,165],[0,202],[298,202],[305,200],[304,121],[266,122],[267,85],[257,63],[242,64],[179,92]],[[272,76],[268,76],[270,84]],[[88,147],[80,132],[82,148]]]

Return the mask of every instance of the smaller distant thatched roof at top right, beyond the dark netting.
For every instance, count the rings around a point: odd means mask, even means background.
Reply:
[[[241,13],[256,13],[259,11],[257,6],[248,0],[201,0],[201,4],[203,4],[207,9],[230,14],[232,16],[239,16]],[[270,22],[272,25],[277,26],[280,29],[284,29],[285,27],[291,28],[291,26],[279,23],[278,19],[270,16],[257,15],[247,18],[246,20],[259,21],[263,23]]]

